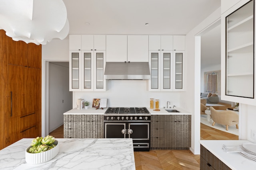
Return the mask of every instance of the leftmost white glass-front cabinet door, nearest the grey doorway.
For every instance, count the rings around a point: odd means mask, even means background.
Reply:
[[[70,72],[69,72],[69,90],[81,90],[81,74],[80,74],[81,51],[70,51]]]

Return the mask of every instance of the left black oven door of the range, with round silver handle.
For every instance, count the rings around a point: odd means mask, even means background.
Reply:
[[[105,123],[105,138],[126,138],[126,123]]]

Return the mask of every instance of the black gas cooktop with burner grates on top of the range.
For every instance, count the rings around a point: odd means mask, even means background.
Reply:
[[[116,114],[147,114],[150,115],[148,109],[146,107],[108,107],[108,109],[104,113],[105,115],[116,115]]]

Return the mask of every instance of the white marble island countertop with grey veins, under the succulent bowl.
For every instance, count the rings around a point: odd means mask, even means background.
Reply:
[[[21,139],[0,150],[0,169],[135,170],[132,139],[57,139],[60,150],[52,160],[28,164],[25,150],[32,140]]]

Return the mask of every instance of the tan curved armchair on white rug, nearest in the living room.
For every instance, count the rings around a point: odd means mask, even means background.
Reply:
[[[238,120],[239,116],[235,111],[232,110],[223,110],[217,111],[213,107],[210,107],[211,116],[212,116],[212,126],[215,123],[220,125],[226,125],[226,130],[228,131],[228,126],[236,125],[236,129],[238,129]]]

